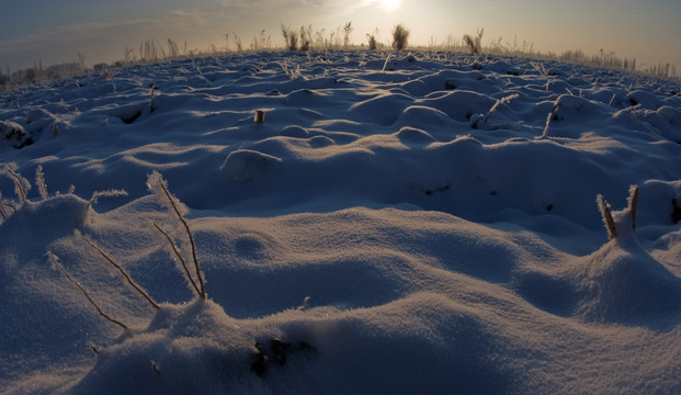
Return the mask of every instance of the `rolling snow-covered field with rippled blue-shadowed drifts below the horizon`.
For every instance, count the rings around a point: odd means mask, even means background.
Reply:
[[[375,52],[4,92],[0,392],[681,393],[680,92]]]

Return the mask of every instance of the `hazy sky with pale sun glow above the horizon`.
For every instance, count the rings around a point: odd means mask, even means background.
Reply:
[[[245,48],[264,31],[273,46],[283,46],[282,24],[311,25],[329,36],[351,22],[352,44],[375,34],[390,43],[398,23],[411,33],[410,45],[461,42],[485,30],[484,46],[502,45],[560,54],[614,53],[636,58],[639,68],[673,64],[681,69],[679,0],[21,0],[3,2],[0,68],[7,72],[76,61],[112,63],[139,56],[143,42],[167,48],[222,50]],[[228,37],[226,38],[226,35]]]

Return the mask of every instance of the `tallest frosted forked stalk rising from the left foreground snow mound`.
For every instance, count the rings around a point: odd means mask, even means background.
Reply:
[[[180,248],[178,248],[170,234],[163,230],[158,224],[154,224],[154,226],[169,241],[172,250],[172,257],[177,259],[177,262],[179,262],[179,267],[186,276],[186,281],[191,285],[192,290],[196,292],[197,296],[205,300],[205,280],[201,272],[201,267],[196,257],[196,244],[194,242],[194,236],[190,230],[189,224],[186,223],[186,219],[184,219],[184,215],[189,212],[189,210],[184,204],[182,204],[182,202],[180,202],[175,196],[170,193],[166,180],[163,180],[159,172],[154,171],[151,174],[149,174],[147,179],[147,188],[157,196],[158,202],[161,205],[168,207],[168,210],[173,214],[173,217],[178,221],[179,225],[177,226],[177,228],[184,229],[186,239],[190,244],[191,261],[193,263],[193,274],[192,270],[189,269],[189,266],[186,263],[188,259],[182,257],[182,253],[180,253]]]

